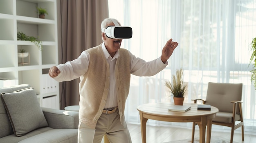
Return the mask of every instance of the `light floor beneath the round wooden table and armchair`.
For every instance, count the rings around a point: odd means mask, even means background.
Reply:
[[[140,125],[128,124],[132,143],[141,143],[141,129]],[[147,143],[163,143],[169,141],[177,141],[183,139],[191,139],[192,129],[179,128],[179,127],[157,127],[146,126],[146,141]],[[221,136],[225,139],[230,139],[230,132],[214,130],[211,133],[212,137]],[[195,129],[195,138],[199,137],[199,129]],[[256,134],[245,132],[244,141],[242,141],[242,135],[235,131],[234,141],[237,143],[256,143]],[[101,142],[103,143],[103,141]]]

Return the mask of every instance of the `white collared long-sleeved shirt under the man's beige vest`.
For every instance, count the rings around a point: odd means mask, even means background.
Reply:
[[[108,98],[104,108],[112,108],[118,106],[117,104],[117,90],[115,89],[116,81],[115,75],[115,65],[117,58],[119,57],[119,51],[117,51],[112,58],[108,53],[106,46],[103,42],[101,45],[104,55],[110,65],[110,90],[108,92]],[[143,59],[135,57],[132,53],[130,55],[130,73],[137,76],[153,76],[163,70],[168,62],[165,64],[162,62],[161,58],[154,59],[150,62],[146,62]],[[83,51],[81,55],[74,59],[73,61],[66,62],[65,64],[59,64],[57,67],[61,73],[54,79],[58,82],[71,81],[73,79],[79,78],[84,75],[90,63],[90,55],[88,51]]]

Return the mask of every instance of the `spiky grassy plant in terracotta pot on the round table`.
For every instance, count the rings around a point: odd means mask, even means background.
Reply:
[[[186,85],[183,83],[183,69],[176,70],[176,76],[172,75],[172,83],[165,82],[165,86],[170,90],[173,95],[174,105],[183,105],[184,94],[186,92]]]

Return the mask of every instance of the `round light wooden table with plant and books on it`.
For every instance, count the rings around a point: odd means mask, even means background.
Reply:
[[[205,143],[205,132],[207,126],[207,143],[211,140],[211,123],[219,112],[218,108],[211,106],[211,110],[197,110],[195,103],[184,103],[191,106],[186,112],[168,111],[173,103],[148,103],[137,107],[141,122],[142,142],[146,143],[146,123],[148,119],[168,122],[195,122],[199,126],[200,143]],[[192,142],[193,143],[193,142]]]

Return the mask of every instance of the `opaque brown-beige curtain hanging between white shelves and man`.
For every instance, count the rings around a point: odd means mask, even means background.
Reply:
[[[108,0],[57,0],[58,57],[65,63],[102,43],[101,21],[109,17]],[[60,108],[79,105],[79,81],[60,83]]]

